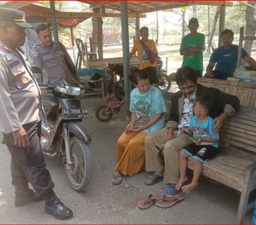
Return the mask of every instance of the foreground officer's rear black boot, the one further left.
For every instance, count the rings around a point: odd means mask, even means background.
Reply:
[[[16,207],[20,207],[23,205],[26,205],[30,202],[40,202],[43,201],[43,197],[37,197],[36,193],[27,188],[20,188],[20,187],[15,187],[15,200],[14,200],[14,205]]]

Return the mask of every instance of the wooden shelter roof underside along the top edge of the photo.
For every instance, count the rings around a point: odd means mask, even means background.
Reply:
[[[37,1],[1,1],[0,6],[19,9],[25,12],[28,22],[51,22],[51,9],[32,4]],[[75,27],[90,17],[121,17],[121,1],[79,1],[90,5],[90,9],[101,7],[101,13],[60,12],[55,10],[57,22],[62,26]],[[142,18],[145,13],[175,9],[190,5],[233,6],[229,1],[127,1],[128,16]],[[116,13],[105,13],[105,9]]]

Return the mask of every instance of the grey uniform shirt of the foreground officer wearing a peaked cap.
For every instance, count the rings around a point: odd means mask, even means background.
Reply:
[[[25,56],[0,41],[0,131],[44,119],[41,91]]]

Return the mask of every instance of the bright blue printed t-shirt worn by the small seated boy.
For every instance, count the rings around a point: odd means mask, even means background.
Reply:
[[[211,116],[208,116],[208,119],[204,122],[198,122],[198,115],[194,115],[190,120],[189,130],[193,130],[193,135],[195,137],[212,137],[214,139],[220,139],[218,134],[215,134],[213,129],[215,127],[215,123],[213,123],[213,119]],[[207,143],[201,143],[200,145],[205,145]],[[210,143],[209,143],[210,144]],[[219,147],[218,142],[211,143],[210,145],[214,147]]]

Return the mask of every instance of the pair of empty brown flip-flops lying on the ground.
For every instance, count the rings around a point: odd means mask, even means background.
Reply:
[[[180,195],[149,195],[147,198],[142,199],[138,202],[138,207],[141,210],[146,210],[152,205],[156,205],[159,208],[166,209],[170,208],[178,202],[182,202],[184,198]]]

